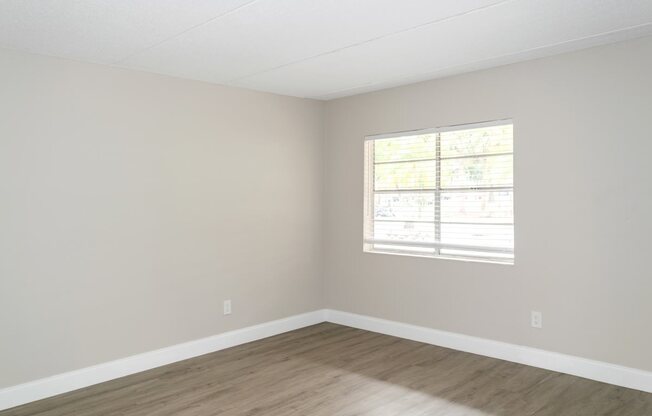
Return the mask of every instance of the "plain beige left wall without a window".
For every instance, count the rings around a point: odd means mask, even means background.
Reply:
[[[0,387],[322,307],[322,103],[10,52],[0,80]]]

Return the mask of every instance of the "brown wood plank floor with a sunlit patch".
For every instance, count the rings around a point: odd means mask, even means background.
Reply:
[[[330,323],[1,416],[650,416],[652,394]]]

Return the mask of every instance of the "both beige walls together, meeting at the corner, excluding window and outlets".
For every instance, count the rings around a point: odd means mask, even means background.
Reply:
[[[0,52],[0,388],[323,306],[652,370],[651,73],[647,38],[323,104]],[[516,265],[362,253],[365,135],[505,117]]]

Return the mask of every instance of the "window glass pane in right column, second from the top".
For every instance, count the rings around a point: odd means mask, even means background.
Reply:
[[[441,161],[442,188],[512,186],[512,155]]]

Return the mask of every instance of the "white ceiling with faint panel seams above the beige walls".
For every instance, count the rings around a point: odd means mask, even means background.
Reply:
[[[652,0],[0,0],[0,47],[331,99],[652,34]]]

